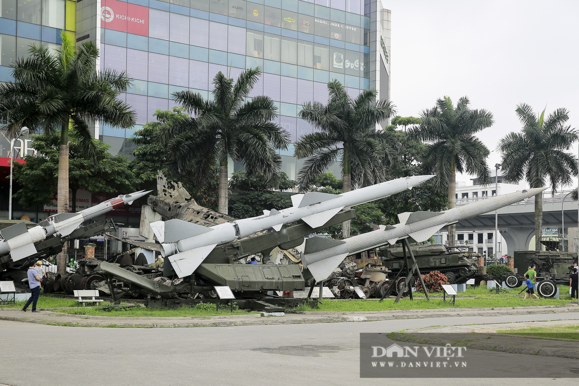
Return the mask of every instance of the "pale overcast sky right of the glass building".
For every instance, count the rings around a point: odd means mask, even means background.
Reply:
[[[479,133],[493,172],[498,141],[521,128],[518,103],[547,105],[545,115],[566,107],[579,128],[578,1],[382,3],[392,10],[391,99],[399,115],[419,116],[445,95],[468,96],[473,108],[494,115]],[[457,176],[467,185],[469,178]]]

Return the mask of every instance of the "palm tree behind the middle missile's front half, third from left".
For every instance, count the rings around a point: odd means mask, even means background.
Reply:
[[[365,186],[384,181],[385,167],[397,157],[397,141],[387,130],[376,131],[376,124],[395,113],[391,101],[376,101],[376,90],[364,90],[352,99],[342,83],[328,83],[327,105],[308,102],[299,116],[319,132],[302,136],[294,155],[306,158],[298,174],[300,191],[312,188],[316,177],[332,163],[342,164],[343,191],[352,184]],[[342,237],[350,237],[350,221],[342,224]]]

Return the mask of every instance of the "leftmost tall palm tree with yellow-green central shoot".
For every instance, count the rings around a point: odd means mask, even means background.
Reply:
[[[74,130],[79,146],[89,159],[96,157],[89,122],[100,121],[129,128],[135,112],[116,99],[130,85],[124,72],[97,72],[98,49],[94,42],[75,48],[67,34],[63,45],[50,52],[31,45],[27,59],[12,65],[14,82],[0,85],[0,120],[14,136],[22,126],[46,134],[60,129],[58,154],[58,212],[68,212],[68,132]],[[65,273],[66,248],[58,254],[58,272]]]

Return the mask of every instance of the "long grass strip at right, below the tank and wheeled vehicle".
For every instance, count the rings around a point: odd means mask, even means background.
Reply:
[[[431,299],[430,301],[422,298],[409,300],[408,298],[400,300],[398,304],[394,303],[394,298],[384,299],[382,303],[378,300],[338,300],[323,301],[319,308],[310,308],[307,305],[295,308],[295,311],[382,311],[387,309],[436,309],[436,308],[485,308],[485,307],[525,307],[529,305],[558,305],[569,304],[569,301],[557,299],[538,299],[523,300],[523,298],[500,298],[500,295],[494,295],[496,298],[483,299],[465,299],[456,298],[456,304],[444,302],[442,299]]]

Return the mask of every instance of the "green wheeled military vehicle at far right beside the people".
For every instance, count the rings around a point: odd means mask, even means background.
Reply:
[[[514,260],[517,273],[504,276],[507,287],[520,287],[525,281],[523,275],[531,264],[535,264],[537,293],[543,297],[554,297],[557,285],[569,285],[569,274],[573,263],[577,263],[577,253],[521,250],[515,251]]]

